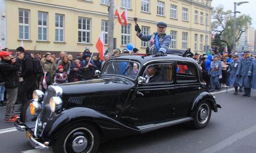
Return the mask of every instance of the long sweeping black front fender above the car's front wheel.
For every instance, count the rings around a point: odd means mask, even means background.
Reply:
[[[137,127],[128,126],[102,112],[90,108],[78,107],[63,110],[54,115],[46,125],[42,135],[43,139],[56,139],[65,127],[74,122],[93,122],[98,125],[103,136],[108,138],[140,134],[140,130]]]

